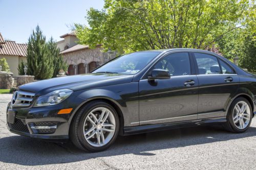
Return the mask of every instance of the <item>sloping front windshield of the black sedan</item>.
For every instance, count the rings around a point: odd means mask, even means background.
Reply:
[[[117,57],[93,73],[136,74],[161,52],[137,52]]]

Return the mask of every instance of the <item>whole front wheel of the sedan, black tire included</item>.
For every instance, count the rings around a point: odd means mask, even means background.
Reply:
[[[103,116],[100,117],[101,115]],[[101,152],[114,143],[118,131],[119,119],[116,110],[108,103],[94,101],[76,113],[71,124],[70,138],[81,150]]]

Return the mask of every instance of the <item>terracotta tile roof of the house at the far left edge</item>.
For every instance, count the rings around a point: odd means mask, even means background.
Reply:
[[[1,46],[2,45],[2,46]],[[27,56],[27,44],[19,44],[15,41],[5,41],[0,45],[0,55]]]

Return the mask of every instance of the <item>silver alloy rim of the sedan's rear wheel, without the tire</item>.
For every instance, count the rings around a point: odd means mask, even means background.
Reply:
[[[249,105],[244,101],[238,102],[233,109],[234,125],[236,125],[238,129],[245,129],[250,123],[250,118],[251,111]]]

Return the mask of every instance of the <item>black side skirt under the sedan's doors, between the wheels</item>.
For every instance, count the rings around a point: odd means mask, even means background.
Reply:
[[[221,124],[221,123],[225,123],[226,121],[227,121],[226,116],[223,116],[223,117],[188,120],[188,121],[182,121],[182,122],[172,122],[172,123],[166,123],[166,124],[124,127],[123,135],[133,135],[133,134],[148,133],[148,132],[155,132],[155,131],[161,131],[161,130],[195,127],[195,126],[200,126],[204,124]]]

